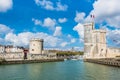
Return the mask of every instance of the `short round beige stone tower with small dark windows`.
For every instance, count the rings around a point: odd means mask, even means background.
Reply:
[[[43,51],[43,39],[31,39],[29,45],[30,54],[42,54]]]

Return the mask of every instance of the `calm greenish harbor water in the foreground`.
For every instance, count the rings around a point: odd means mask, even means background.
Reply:
[[[81,60],[0,65],[0,80],[120,80],[120,68]]]

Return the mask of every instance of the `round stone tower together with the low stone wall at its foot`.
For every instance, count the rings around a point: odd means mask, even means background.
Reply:
[[[56,59],[56,53],[43,49],[43,39],[34,38],[30,40],[28,59]]]

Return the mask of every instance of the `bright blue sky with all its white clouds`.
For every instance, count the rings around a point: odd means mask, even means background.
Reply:
[[[120,47],[119,0],[0,0],[0,44],[29,46],[44,39],[44,48],[83,50],[83,24],[107,31],[107,46]]]

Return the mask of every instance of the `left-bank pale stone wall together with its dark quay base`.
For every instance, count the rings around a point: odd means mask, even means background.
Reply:
[[[24,59],[24,53],[0,54],[0,64],[26,64],[56,61],[64,61],[64,59],[57,58],[55,54],[27,54],[27,59]]]

